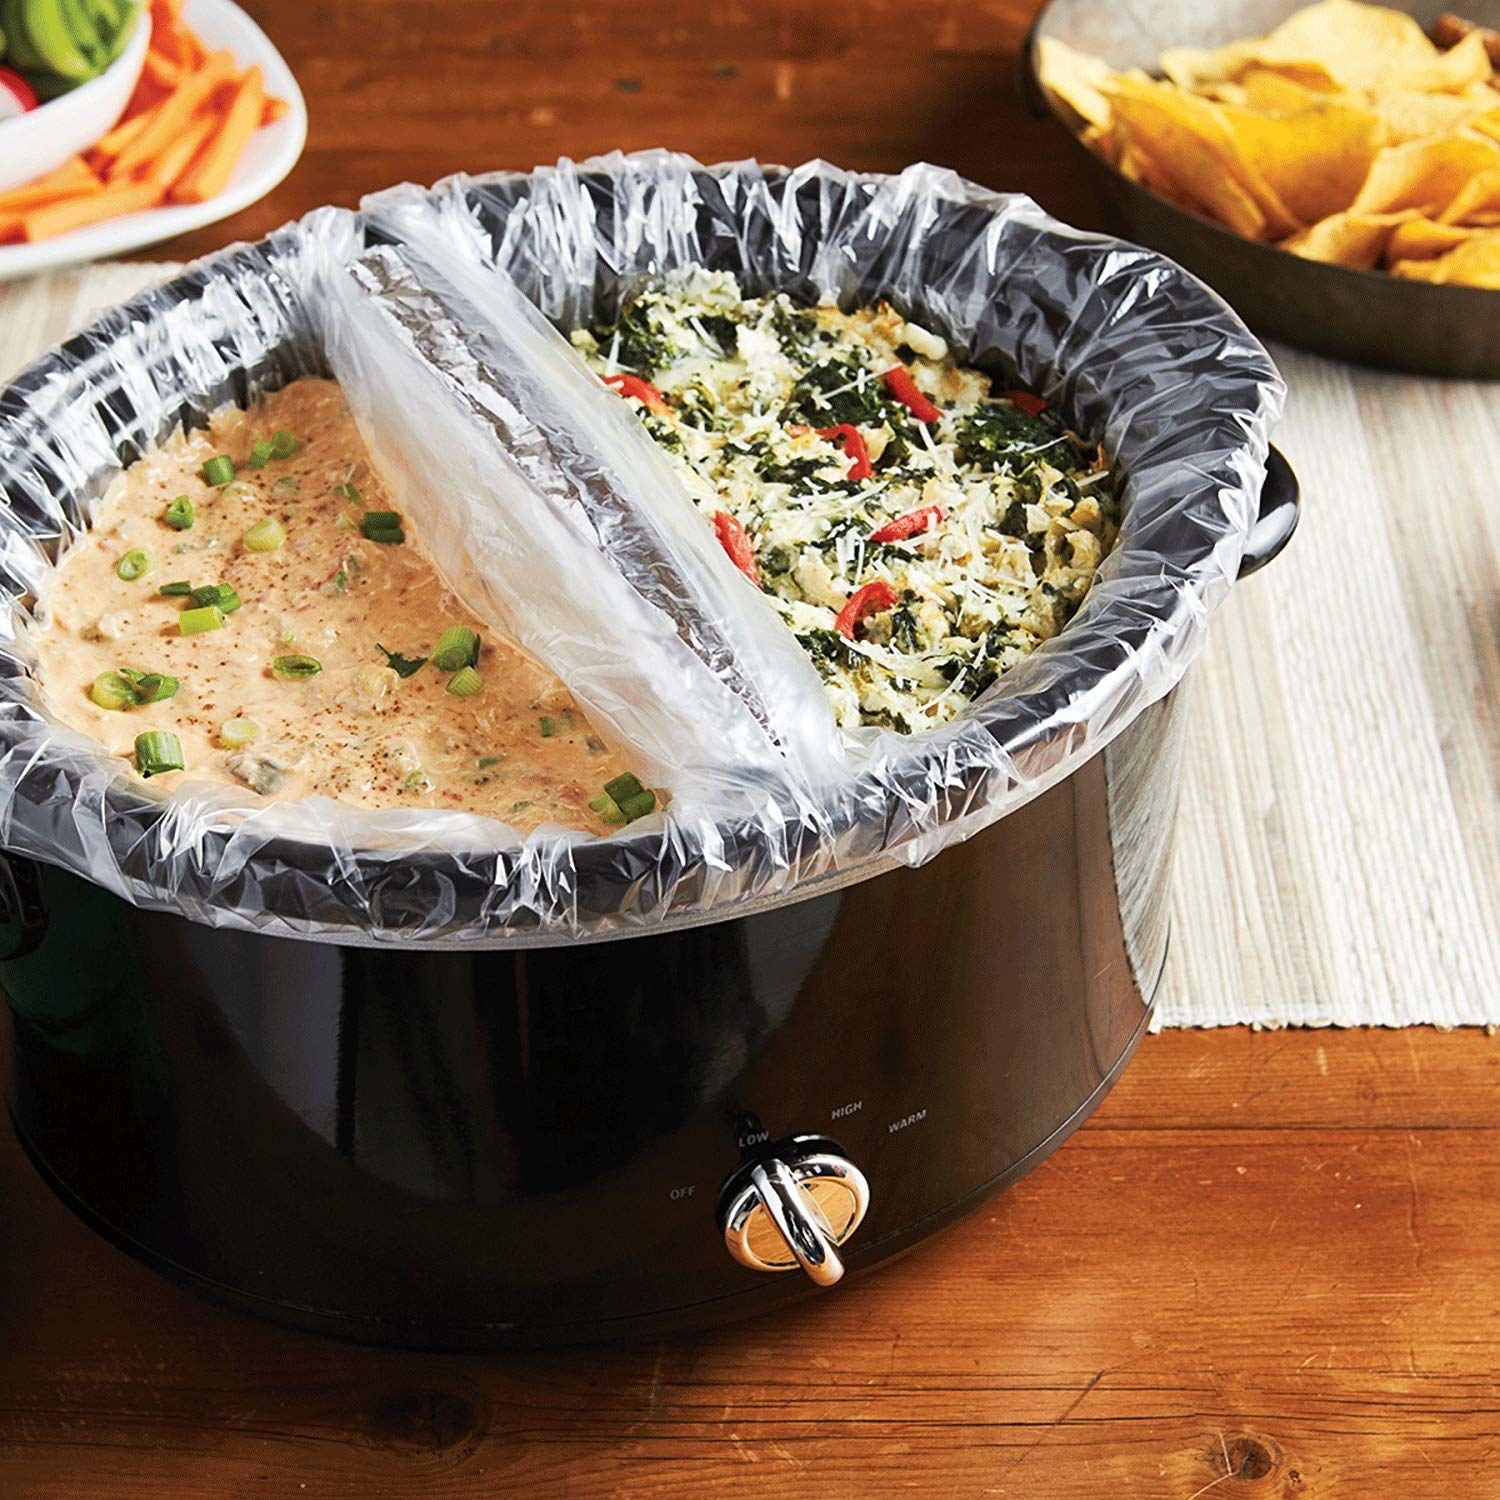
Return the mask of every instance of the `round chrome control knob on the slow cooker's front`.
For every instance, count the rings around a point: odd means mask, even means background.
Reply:
[[[804,1137],[806,1140],[806,1137]],[[822,1140],[807,1140],[825,1148]],[[752,1270],[796,1270],[820,1287],[843,1276],[838,1246],[870,1206],[864,1173],[834,1150],[784,1143],[778,1156],[741,1167],[720,1198],[729,1254]]]

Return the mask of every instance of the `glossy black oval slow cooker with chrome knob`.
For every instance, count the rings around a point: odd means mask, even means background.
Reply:
[[[638,165],[572,178],[616,252],[632,240],[620,182]],[[776,256],[747,228],[766,204],[783,243],[801,216],[798,255],[819,250],[819,226],[822,248],[843,232],[830,168],[753,170],[759,198],[729,190],[744,166],[682,171],[680,256],[768,276]],[[444,192],[514,268],[534,182]],[[879,201],[876,178],[837,182]],[[928,286],[1008,202],[928,192]],[[848,204],[838,214],[852,222]],[[399,240],[396,220],[369,222]],[[1162,627],[1196,636],[1222,592],[1196,586],[1275,555],[1298,498],[1275,454],[1263,466],[1274,372],[1210,292],[1114,242],[1058,230],[1048,244],[1035,210],[1005,222],[1024,246],[992,267],[1012,278],[1005,296],[1022,296],[1017,266],[1041,270],[1011,350],[990,330],[970,352],[1050,378],[1138,482],[1116,584],[976,710],[1022,768],[1014,784],[993,762],[927,766],[920,786],[888,771],[854,813],[804,818],[792,837],[790,822],[772,838],[765,818],[726,820],[712,868],[660,834],[574,846],[560,896],[525,850],[384,843],[330,860],[297,838],[246,846],[232,826],[189,837],[170,801],[80,771],[76,746],[50,759],[24,648],[8,648],[6,1101],[84,1220],[212,1298],[350,1338],[660,1332],[898,1254],[1088,1116],[1146,1029],[1167,946],[1182,699],[1150,676],[1173,654]],[[297,240],[186,272],[0,394],[9,597],[36,591],[88,498],[174,424],[324,370],[286,272]],[[873,246],[854,256],[861,291],[891,291],[890,243],[860,240]],[[662,262],[650,236],[632,243]],[[627,260],[596,256],[590,274],[616,288],[642,268]],[[942,296],[926,315],[964,332]],[[1082,316],[1096,318],[1089,340]],[[64,446],[54,429],[80,411],[87,441]],[[1209,436],[1194,447],[1196,434]],[[1258,519],[1236,512],[1244,486]],[[1120,681],[1138,692],[1110,699]],[[1107,732],[1090,738],[1106,699]],[[528,898],[512,900],[524,879]]]

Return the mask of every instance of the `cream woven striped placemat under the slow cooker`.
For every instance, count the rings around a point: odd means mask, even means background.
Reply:
[[[0,288],[0,380],[172,270]],[[1275,351],[1300,530],[1192,669],[1162,1026],[1500,1024],[1500,384]]]

